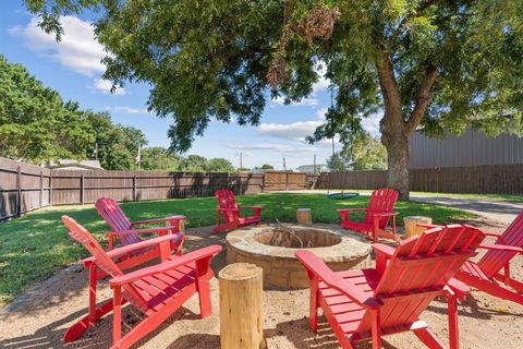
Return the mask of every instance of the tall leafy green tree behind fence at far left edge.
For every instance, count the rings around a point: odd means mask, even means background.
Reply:
[[[83,159],[93,141],[77,104],[64,103],[22,64],[0,55],[0,156],[34,164]]]

